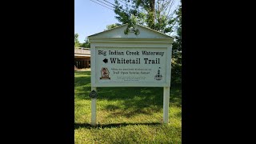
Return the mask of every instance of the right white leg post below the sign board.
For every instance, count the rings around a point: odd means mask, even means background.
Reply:
[[[169,121],[170,87],[163,88],[163,122]]]

